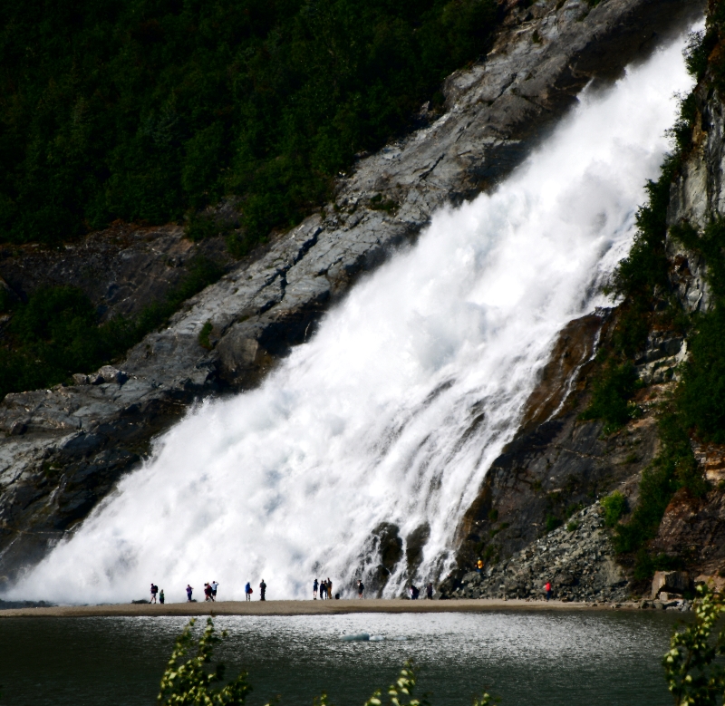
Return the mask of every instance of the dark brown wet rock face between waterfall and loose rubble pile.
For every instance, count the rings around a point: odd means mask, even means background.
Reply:
[[[567,327],[547,365],[560,370],[564,363],[556,356],[563,361],[585,359],[570,367],[569,377],[560,386],[569,391],[568,396],[555,409],[548,408],[548,418],[528,429],[524,426],[508,444],[463,517],[458,574],[473,568],[479,557],[507,559],[545,535],[547,525],[551,529],[565,523],[576,511],[614,489],[632,506],[636,502],[642,470],[658,449],[657,405],[670,386],[652,385],[639,392],[636,400],[642,416],[614,434],[604,436],[601,421],[580,421],[579,414],[589,399],[585,381],[595,353],[596,336],[589,318]],[[604,325],[604,338],[612,324]],[[580,335],[575,335],[577,328]],[[587,356],[577,358],[575,352],[581,352],[581,341],[587,339],[591,341]],[[525,419],[536,418],[531,410],[546,399],[548,380],[545,370],[541,382],[545,392],[537,388],[532,393]]]

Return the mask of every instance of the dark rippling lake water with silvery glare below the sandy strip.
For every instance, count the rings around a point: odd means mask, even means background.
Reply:
[[[215,619],[227,675],[249,672],[249,706],[359,704],[419,663],[419,695],[468,706],[484,687],[501,706],[663,706],[662,653],[680,615],[654,613],[347,614]],[[149,706],[187,620],[0,619],[2,703]],[[200,630],[204,621],[200,619]],[[371,642],[343,635],[369,633]]]

